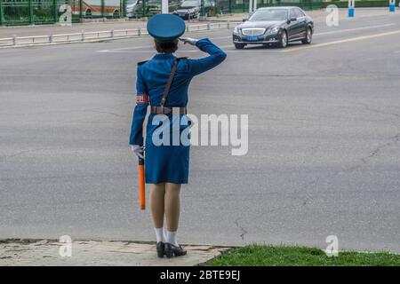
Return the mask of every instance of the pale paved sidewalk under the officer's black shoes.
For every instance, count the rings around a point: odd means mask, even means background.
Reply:
[[[203,264],[229,248],[185,246],[187,256],[156,256],[154,243],[131,241],[73,241],[71,256],[60,256],[65,243],[47,240],[0,241],[0,266],[181,266]]]

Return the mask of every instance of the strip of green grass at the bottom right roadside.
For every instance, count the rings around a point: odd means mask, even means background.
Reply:
[[[400,266],[400,255],[388,252],[340,251],[326,256],[320,248],[249,245],[234,248],[205,265],[212,266]]]

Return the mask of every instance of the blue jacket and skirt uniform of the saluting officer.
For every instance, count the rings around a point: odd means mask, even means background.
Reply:
[[[177,70],[173,77],[171,89],[166,99],[167,107],[187,106],[188,104],[188,85],[195,75],[199,75],[207,70],[219,65],[227,54],[220,50],[218,46],[213,44],[209,39],[201,39],[196,46],[210,55],[202,59],[180,59]],[[172,65],[176,57],[172,53],[159,53],[153,59],[138,66],[136,81],[136,106],[133,111],[132,128],[131,128],[131,145],[143,145],[143,122],[147,113],[148,103],[151,106],[160,106],[161,99],[168,77],[172,70]],[[189,146],[180,145],[172,146],[172,115],[169,115],[170,130],[170,146],[156,146],[153,143],[153,133],[161,127],[152,125],[153,118],[156,114],[150,114],[148,117],[147,134],[146,134],[146,159],[145,159],[145,175],[146,183],[188,183],[189,168]],[[180,126],[181,131],[188,126]]]

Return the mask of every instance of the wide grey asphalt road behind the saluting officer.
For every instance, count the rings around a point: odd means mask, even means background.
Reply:
[[[304,49],[228,53],[193,114],[249,114],[249,152],[194,146],[179,241],[400,252],[400,13],[316,23]],[[0,50],[0,238],[153,241],[128,146],[151,40]],[[201,57],[190,46],[179,56]]]

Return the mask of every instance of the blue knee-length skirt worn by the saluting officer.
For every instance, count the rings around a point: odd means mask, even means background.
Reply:
[[[162,116],[164,119],[160,121]],[[156,114],[148,116],[145,148],[146,183],[188,184],[190,150],[188,141],[190,141],[191,122],[185,114],[162,116]],[[187,125],[180,125],[185,123]]]

